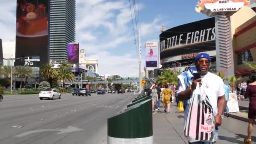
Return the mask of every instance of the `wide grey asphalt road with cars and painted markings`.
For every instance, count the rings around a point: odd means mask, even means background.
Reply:
[[[40,100],[38,95],[4,96],[0,144],[107,143],[107,118],[131,103],[132,93]]]

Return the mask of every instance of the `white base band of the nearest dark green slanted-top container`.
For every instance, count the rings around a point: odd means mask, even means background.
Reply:
[[[137,138],[137,139],[122,139],[114,138],[111,136],[107,137],[108,144],[153,144],[153,136],[146,138]]]

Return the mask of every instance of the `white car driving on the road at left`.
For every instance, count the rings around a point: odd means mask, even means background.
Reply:
[[[61,94],[54,89],[46,89],[44,91],[40,91],[39,99],[61,99]]]

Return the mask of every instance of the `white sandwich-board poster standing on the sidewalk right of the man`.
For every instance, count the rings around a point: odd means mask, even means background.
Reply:
[[[229,93],[229,100],[227,102],[227,107],[229,108],[229,112],[239,112],[236,93]]]

